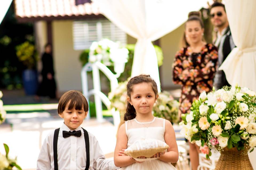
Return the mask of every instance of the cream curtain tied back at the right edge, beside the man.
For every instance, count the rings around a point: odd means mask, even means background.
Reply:
[[[234,48],[220,70],[231,85],[256,91],[256,1],[225,0]]]

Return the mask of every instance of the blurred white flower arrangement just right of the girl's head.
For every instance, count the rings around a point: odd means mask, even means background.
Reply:
[[[179,102],[174,100],[169,92],[163,91],[159,93],[159,102],[153,107],[153,113],[156,117],[162,117],[171,123],[178,122]]]

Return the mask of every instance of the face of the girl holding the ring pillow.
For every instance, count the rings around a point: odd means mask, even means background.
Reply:
[[[136,114],[152,114],[152,108],[157,100],[151,83],[139,83],[132,86],[131,97],[127,100],[136,110]]]

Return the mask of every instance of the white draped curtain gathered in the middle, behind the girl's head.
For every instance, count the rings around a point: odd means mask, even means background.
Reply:
[[[93,0],[103,15],[137,39],[131,76],[150,74],[157,82],[158,91],[160,80],[157,57],[151,41],[179,27],[186,21],[190,11],[199,10],[207,1]]]

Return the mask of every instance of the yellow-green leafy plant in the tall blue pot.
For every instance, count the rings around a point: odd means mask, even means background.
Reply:
[[[38,56],[33,44],[29,43],[29,41],[25,41],[24,43],[16,46],[16,50],[16,55],[24,66],[28,69],[35,68]]]

